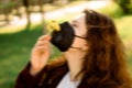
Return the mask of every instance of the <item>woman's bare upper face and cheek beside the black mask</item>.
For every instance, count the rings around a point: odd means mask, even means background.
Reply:
[[[87,28],[86,28],[86,22],[85,22],[85,14],[79,14],[76,16],[74,20],[70,22],[72,26],[75,30],[75,35],[86,37],[87,33]],[[88,45],[85,38],[79,38],[75,36],[74,43],[72,44],[73,47],[79,47],[82,50],[87,50]],[[75,48],[69,48],[69,50],[75,50]]]

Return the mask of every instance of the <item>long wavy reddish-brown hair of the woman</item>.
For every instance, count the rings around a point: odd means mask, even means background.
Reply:
[[[89,88],[131,88],[124,46],[113,21],[92,10],[85,14],[89,50],[81,72]]]

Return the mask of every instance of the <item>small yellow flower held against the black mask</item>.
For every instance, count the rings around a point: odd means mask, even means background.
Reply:
[[[47,31],[61,31],[61,26],[56,21],[51,21],[50,24],[47,24]]]

